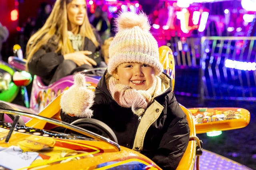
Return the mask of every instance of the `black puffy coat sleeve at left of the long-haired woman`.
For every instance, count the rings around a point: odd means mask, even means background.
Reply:
[[[61,54],[55,52],[55,47],[42,46],[28,61],[28,70],[31,74],[48,76],[54,74],[56,68],[64,61]]]

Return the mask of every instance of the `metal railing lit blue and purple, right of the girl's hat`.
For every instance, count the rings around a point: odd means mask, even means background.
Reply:
[[[173,37],[169,45],[177,94],[256,101],[256,37]]]

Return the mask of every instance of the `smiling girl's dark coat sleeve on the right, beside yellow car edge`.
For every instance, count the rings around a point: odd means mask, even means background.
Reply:
[[[167,106],[164,126],[167,130],[152,160],[163,170],[175,170],[188,146],[190,129],[186,115],[174,95]]]

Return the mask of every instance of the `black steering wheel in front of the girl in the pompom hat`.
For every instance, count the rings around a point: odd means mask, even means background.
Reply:
[[[106,137],[106,138],[118,143],[118,140],[116,138],[114,131],[108,125],[106,125],[105,123],[103,123],[102,121],[99,121],[97,119],[80,118],[80,119],[73,121],[70,124],[78,126],[78,127],[82,127],[88,131],[94,132],[98,135],[101,135],[103,137]],[[64,133],[73,133],[73,134],[79,135],[78,133],[71,131],[69,129],[66,129],[64,131]]]

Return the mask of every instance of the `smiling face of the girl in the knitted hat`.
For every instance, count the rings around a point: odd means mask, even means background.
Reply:
[[[120,84],[136,90],[148,90],[154,82],[155,71],[147,64],[122,63],[113,76],[119,80]]]

